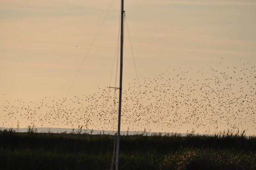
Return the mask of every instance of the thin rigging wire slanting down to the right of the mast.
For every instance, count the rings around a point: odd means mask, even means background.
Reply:
[[[127,19],[126,19],[125,13],[124,13],[124,20],[125,20],[125,23],[126,23],[126,28],[127,28],[127,32],[128,32],[129,41],[130,41],[130,47],[131,47],[131,51],[132,51],[132,58],[133,58],[133,63],[134,63],[135,72],[136,72],[136,76],[137,76],[137,83],[138,83],[138,86],[139,86],[139,94],[140,94],[140,97],[141,97],[141,105],[142,105],[142,108],[143,108],[143,111],[144,111],[144,116],[145,116],[147,130],[148,130],[148,119],[147,119],[145,108],[144,108],[144,102],[143,102],[143,97],[142,97],[140,83],[139,83],[139,76],[138,76],[138,72],[137,72],[137,67],[136,67],[136,63],[135,63],[134,53],[133,53],[133,49],[132,49],[132,42],[130,40],[130,33],[129,33],[129,29],[128,29],[128,24],[127,24]],[[148,132],[149,132],[149,130],[148,130]]]

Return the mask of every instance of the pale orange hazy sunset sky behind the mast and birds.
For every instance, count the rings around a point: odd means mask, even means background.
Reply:
[[[254,0],[124,3],[123,130],[256,134]],[[0,126],[111,130],[119,11],[119,0],[0,0]]]

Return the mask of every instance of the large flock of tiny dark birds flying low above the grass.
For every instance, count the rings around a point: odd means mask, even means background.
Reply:
[[[172,132],[186,126],[198,131],[256,130],[255,66],[240,63],[239,67],[221,70],[168,68],[153,78],[144,78],[140,84],[135,81],[124,86],[123,129],[148,127],[157,132]],[[115,90],[99,88],[93,95],[44,97],[29,103],[6,100],[0,120],[6,127],[13,123],[67,128],[86,124],[88,128],[114,130],[118,110]]]

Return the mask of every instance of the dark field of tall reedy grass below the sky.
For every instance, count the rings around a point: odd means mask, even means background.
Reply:
[[[114,136],[0,131],[1,170],[107,170]],[[256,170],[256,136],[121,136],[120,170]]]

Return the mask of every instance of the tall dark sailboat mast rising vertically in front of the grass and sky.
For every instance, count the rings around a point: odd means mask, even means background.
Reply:
[[[121,0],[121,49],[120,49],[120,84],[119,84],[119,109],[117,128],[117,155],[115,169],[118,170],[119,148],[120,148],[120,125],[121,125],[121,102],[122,102],[122,80],[123,80],[123,47],[124,47],[124,0]]]

